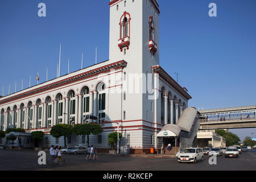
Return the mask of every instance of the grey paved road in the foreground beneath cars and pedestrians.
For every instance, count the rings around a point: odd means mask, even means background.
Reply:
[[[133,158],[129,156],[99,155],[99,160],[85,160],[85,155],[65,155],[64,164],[38,164],[36,151],[0,150],[0,170],[85,170],[85,171],[204,171],[256,170],[256,150],[242,152],[240,158],[217,157],[217,165],[209,165],[209,156],[196,164],[178,163],[167,158]],[[49,155],[47,154],[47,159]]]

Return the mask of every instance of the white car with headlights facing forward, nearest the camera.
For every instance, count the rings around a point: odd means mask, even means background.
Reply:
[[[177,160],[181,162],[193,162],[204,160],[204,152],[201,148],[184,148],[176,154]]]

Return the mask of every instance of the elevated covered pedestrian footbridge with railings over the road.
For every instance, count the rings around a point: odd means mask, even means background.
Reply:
[[[256,127],[256,105],[200,110],[199,130],[242,129]]]

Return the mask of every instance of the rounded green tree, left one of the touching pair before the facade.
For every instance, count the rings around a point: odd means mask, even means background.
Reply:
[[[67,147],[66,144],[66,137],[70,137],[73,133],[73,127],[67,124],[59,124],[52,126],[50,134],[55,138],[64,137],[64,145]]]

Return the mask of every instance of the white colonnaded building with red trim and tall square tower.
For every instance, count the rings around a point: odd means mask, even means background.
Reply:
[[[97,122],[104,132],[90,136],[90,145],[108,149],[115,123],[121,145],[131,152],[156,148],[156,134],[175,124],[188,106],[182,88],[159,65],[159,5],[156,0],[113,0],[110,5],[109,60],[0,98],[1,129],[22,127],[43,131],[48,145],[64,145],[49,135],[58,123]],[[68,145],[85,143],[72,135]]]

